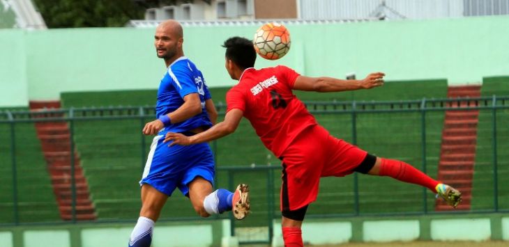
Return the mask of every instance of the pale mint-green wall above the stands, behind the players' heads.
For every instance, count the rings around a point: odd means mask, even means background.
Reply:
[[[509,74],[509,17],[288,24],[291,50],[280,61],[310,76],[386,72],[387,80],[448,79],[480,83]],[[248,38],[257,26],[185,26],[186,56],[209,86],[231,86],[222,42]],[[0,30],[0,106],[57,99],[61,92],[154,89],[165,72],[154,29]],[[5,54],[5,56],[4,56]],[[8,81],[15,81],[15,85]],[[19,93],[24,91],[24,95]]]

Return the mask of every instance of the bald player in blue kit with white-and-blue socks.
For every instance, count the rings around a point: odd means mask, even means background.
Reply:
[[[155,30],[155,49],[168,68],[162,77],[156,105],[157,120],[143,128],[153,138],[142,180],[142,209],[132,230],[129,246],[149,247],[155,221],[165,202],[178,188],[190,198],[197,214],[208,217],[233,210],[244,218],[250,209],[249,189],[239,184],[232,193],[213,191],[214,160],[207,143],[182,146],[162,143],[167,132],[192,136],[210,128],[218,117],[205,80],[196,65],[183,54],[181,24],[169,20]]]

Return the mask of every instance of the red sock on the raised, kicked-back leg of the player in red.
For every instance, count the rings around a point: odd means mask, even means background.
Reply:
[[[435,187],[436,184],[439,184],[438,181],[432,179],[428,175],[425,175],[423,172],[417,170],[413,166],[395,159],[381,158],[379,175],[393,177],[396,180],[411,184],[419,184],[421,186],[425,186],[427,189],[430,189],[433,191],[433,193],[436,193]]]

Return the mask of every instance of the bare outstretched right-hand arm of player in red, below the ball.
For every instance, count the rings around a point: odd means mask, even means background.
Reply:
[[[383,86],[382,72],[368,74],[362,80],[343,80],[332,77],[297,77],[294,89],[315,92],[340,92],[347,90],[369,89]]]

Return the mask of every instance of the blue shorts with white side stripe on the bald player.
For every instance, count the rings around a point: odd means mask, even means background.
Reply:
[[[169,143],[162,143],[164,137],[153,138],[140,186],[150,184],[167,196],[172,196],[178,187],[184,196],[188,196],[188,184],[195,177],[203,177],[213,184],[214,157],[207,143],[168,147]]]

